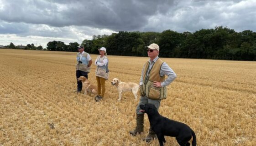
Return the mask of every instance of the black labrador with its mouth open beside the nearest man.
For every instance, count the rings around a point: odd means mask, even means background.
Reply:
[[[192,146],[196,146],[196,135],[188,125],[161,116],[152,104],[140,105],[140,108],[140,112],[147,113],[150,126],[157,134],[160,146],[164,146],[166,142],[164,136],[176,137],[180,146],[190,146],[188,141],[193,136]]]

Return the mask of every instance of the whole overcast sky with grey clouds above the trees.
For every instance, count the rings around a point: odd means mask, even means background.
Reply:
[[[256,32],[256,0],[0,0],[0,45],[81,42],[118,31]]]

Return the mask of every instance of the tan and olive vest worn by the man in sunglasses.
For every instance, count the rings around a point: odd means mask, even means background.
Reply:
[[[141,86],[141,96],[147,96],[153,100],[162,100],[167,97],[167,87],[154,87],[152,84],[154,81],[163,82],[165,80],[165,75],[160,76],[161,66],[164,63],[160,58],[153,64],[151,70],[149,70],[149,61],[144,65],[143,70],[143,84]],[[148,76],[147,76],[147,72]]]

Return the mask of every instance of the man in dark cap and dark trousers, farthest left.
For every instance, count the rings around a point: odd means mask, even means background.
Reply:
[[[88,73],[90,72],[93,60],[88,53],[84,52],[83,45],[78,45],[77,48],[79,53],[77,54],[76,76],[77,78],[84,76],[88,79]],[[77,81],[77,92],[81,92],[82,87],[82,82]]]

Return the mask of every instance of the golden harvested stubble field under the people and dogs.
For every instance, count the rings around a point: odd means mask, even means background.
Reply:
[[[108,55],[103,101],[77,94],[75,52],[0,49],[0,146],[158,146],[141,141],[135,101],[111,86],[140,80],[147,57]],[[93,61],[97,55],[91,55]],[[162,116],[190,126],[198,146],[256,146],[256,62],[162,58],[176,72]],[[95,66],[89,81],[96,85]],[[166,137],[165,146],[178,146]]]

